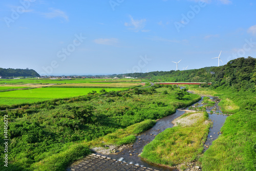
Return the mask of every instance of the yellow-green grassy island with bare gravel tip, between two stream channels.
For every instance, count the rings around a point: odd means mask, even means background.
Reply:
[[[194,118],[194,123],[182,122],[185,118]],[[180,121],[177,120],[178,126],[166,129],[144,147],[141,158],[167,166],[194,161],[202,153],[208,135],[210,122],[207,119],[207,112],[181,116]]]

